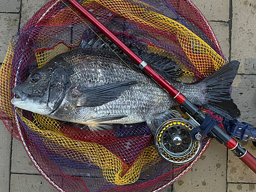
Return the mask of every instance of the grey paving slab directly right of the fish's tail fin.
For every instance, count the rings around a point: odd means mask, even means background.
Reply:
[[[238,120],[256,127],[256,76],[237,75],[232,83],[232,98],[241,111]]]

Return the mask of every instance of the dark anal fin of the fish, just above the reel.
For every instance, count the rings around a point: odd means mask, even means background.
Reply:
[[[165,121],[168,121],[169,119],[173,118],[181,118],[181,115],[178,111],[166,111],[159,116],[157,116],[154,120],[146,121],[146,124],[150,128],[150,131],[153,135],[157,132],[158,127],[163,124]]]

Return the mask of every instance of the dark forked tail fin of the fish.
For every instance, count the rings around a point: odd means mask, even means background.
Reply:
[[[227,119],[240,117],[240,110],[230,97],[231,84],[237,75],[239,65],[239,61],[231,61],[201,81],[206,84],[206,97],[208,100],[206,104],[201,106]]]

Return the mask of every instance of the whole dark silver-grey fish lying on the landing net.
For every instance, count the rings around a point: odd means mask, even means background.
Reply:
[[[155,60],[148,57],[147,64],[192,103],[227,119],[240,116],[229,94],[239,61],[227,63],[200,81],[183,83],[170,75],[179,71],[177,67],[172,70],[173,63],[166,67],[162,58],[157,62],[158,57]],[[163,66],[165,69],[161,70]],[[92,48],[78,48],[55,56],[12,92],[16,97],[11,103],[17,108],[60,121],[86,124],[92,131],[111,129],[113,124],[165,120],[174,117],[170,108],[179,105],[129,57]]]

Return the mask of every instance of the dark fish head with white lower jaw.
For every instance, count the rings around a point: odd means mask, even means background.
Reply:
[[[40,68],[13,88],[12,92],[18,97],[11,103],[23,110],[49,115],[58,108],[70,87],[65,69]]]

